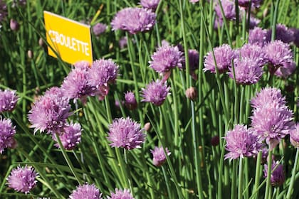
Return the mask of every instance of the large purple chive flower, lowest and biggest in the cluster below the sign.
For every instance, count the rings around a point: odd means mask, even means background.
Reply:
[[[48,92],[34,102],[29,111],[28,119],[31,128],[47,133],[61,133],[66,127],[66,119],[71,115],[68,98],[61,95],[53,95]]]

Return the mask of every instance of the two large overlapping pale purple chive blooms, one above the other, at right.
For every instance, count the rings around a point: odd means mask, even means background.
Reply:
[[[293,112],[285,105],[280,90],[266,88],[251,99],[251,126],[270,149],[294,129]]]

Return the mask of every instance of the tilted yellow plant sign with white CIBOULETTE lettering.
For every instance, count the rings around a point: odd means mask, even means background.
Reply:
[[[61,57],[67,63],[80,60],[93,62],[90,26],[63,16],[43,11],[46,26],[48,54]]]

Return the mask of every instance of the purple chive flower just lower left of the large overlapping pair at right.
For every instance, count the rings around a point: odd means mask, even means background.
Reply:
[[[225,158],[236,159],[243,157],[251,157],[261,151],[262,144],[258,136],[252,129],[247,129],[243,124],[236,124],[234,129],[227,131],[226,136],[226,151]]]

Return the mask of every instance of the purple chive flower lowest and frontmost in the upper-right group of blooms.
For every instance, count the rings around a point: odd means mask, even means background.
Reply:
[[[263,68],[258,65],[257,60],[242,58],[234,60],[234,68],[229,68],[229,77],[240,85],[253,85],[261,80]]]

